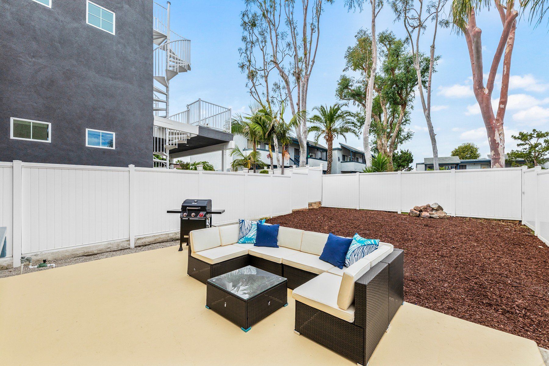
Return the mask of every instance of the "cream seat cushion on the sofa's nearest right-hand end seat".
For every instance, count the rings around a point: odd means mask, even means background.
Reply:
[[[355,321],[354,305],[341,309],[337,304],[340,284],[340,276],[322,273],[296,288],[292,297],[305,305],[352,323]]]

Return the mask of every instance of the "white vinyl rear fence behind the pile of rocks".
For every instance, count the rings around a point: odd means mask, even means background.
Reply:
[[[522,168],[331,174],[322,205],[407,212],[438,202],[452,216],[522,219]]]

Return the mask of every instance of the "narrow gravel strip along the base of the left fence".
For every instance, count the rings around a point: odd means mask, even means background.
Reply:
[[[85,255],[80,257],[64,258],[64,259],[52,261],[51,263],[55,263],[55,267],[29,269],[28,264],[25,264],[25,267],[23,269],[23,274],[37,272],[37,271],[49,271],[57,267],[70,266],[71,264],[90,262],[90,261],[95,261],[103,258],[117,257],[125,254],[132,254],[137,252],[144,252],[147,250],[160,249],[160,248],[164,248],[166,246],[172,246],[172,245],[179,245],[179,240],[163,241],[162,243],[142,245],[142,246],[137,246],[135,248],[120,249],[120,250],[115,250],[111,252],[103,252],[103,253]],[[183,249],[187,250],[186,248],[183,248]],[[177,249],[174,248],[173,251],[177,251]],[[32,263],[33,266],[36,266],[36,264],[37,263],[35,262]],[[0,271],[0,278],[11,277],[11,276],[19,275],[20,273],[21,273],[21,267],[3,269],[2,271]]]

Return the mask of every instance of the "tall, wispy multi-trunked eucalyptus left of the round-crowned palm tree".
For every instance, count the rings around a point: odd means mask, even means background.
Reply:
[[[281,100],[288,98],[292,116],[307,110],[307,93],[320,41],[323,5],[333,0],[245,0],[243,42],[240,69],[251,80],[263,77],[262,87],[268,91],[265,74],[274,67],[281,79],[273,86]],[[250,28],[251,27],[251,28]],[[256,31],[253,31],[253,28]],[[248,49],[247,45],[248,44]],[[254,51],[255,48],[255,51]],[[244,55],[244,57],[242,57]],[[249,67],[250,64],[259,66]],[[278,88],[278,89],[277,89]],[[252,90],[257,95],[257,91]],[[267,92],[265,92],[267,94]],[[269,99],[267,97],[267,99]],[[301,150],[300,166],[305,166],[307,149],[306,119],[295,129]]]

